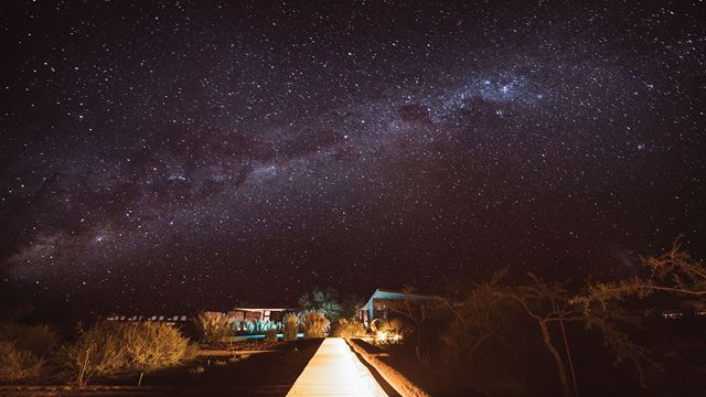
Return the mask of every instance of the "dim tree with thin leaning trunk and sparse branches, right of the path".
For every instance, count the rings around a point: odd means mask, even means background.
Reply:
[[[648,368],[656,368],[643,347],[634,343],[623,325],[637,324],[639,318],[622,309],[619,302],[585,307],[565,283],[549,282],[528,273],[528,282],[507,285],[505,271],[495,272],[489,282],[474,285],[461,299],[436,298],[451,313],[441,341],[453,352],[466,353],[469,361],[493,339],[512,333],[513,324],[526,315],[539,331],[539,343],[555,365],[564,396],[578,395],[578,380],[569,344],[567,323],[577,323],[599,333],[616,358],[630,361],[644,382]],[[587,308],[589,310],[587,310]]]

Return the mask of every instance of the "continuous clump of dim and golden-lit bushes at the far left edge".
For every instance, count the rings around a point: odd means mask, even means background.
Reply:
[[[68,382],[149,373],[193,355],[194,346],[164,323],[98,322],[62,341],[49,325],[0,325],[0,382]]]

